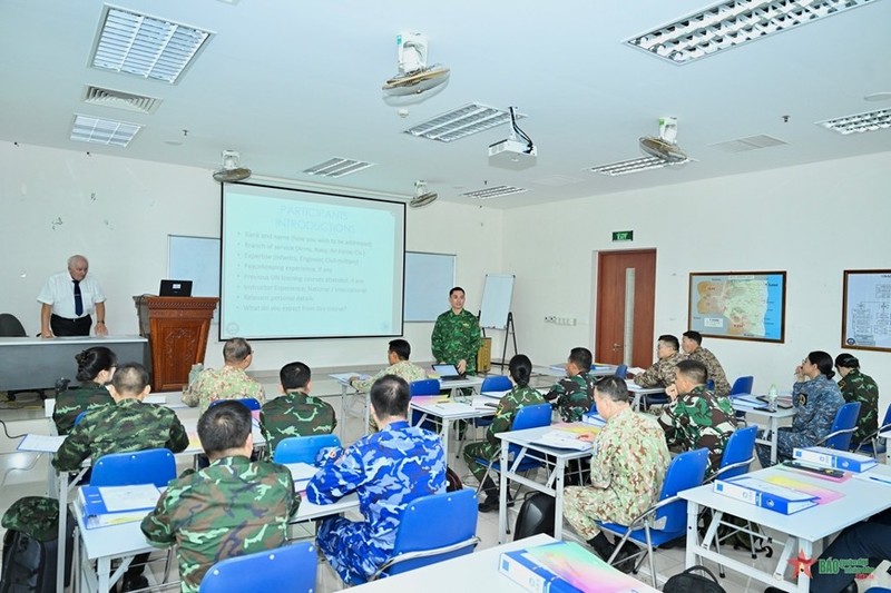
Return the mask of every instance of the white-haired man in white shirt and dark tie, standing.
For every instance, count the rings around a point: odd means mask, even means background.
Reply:
[[[68,258],[68,271],[53,274],[43,285],[40,302],[40,337],[89,336],[96,313],[96,335],[107,336],[105,293],[99,281],[88,276],[90,264],[82,255]]]

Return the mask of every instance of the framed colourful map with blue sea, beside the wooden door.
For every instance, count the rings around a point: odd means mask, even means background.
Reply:
[[[785,271],[692,271],[689,328],[704,336],[783,343]]]

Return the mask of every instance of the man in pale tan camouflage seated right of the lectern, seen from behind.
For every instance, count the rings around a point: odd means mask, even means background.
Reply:
[[[183,403],[204,413],[217,399],[244,399],[253,397],[261,404],[266,402],[263,385],[251,378],[245,370],[254,362],[254,350],[244,338],[231,338],[223,346],[223,368],[205,368],[183,392]]]

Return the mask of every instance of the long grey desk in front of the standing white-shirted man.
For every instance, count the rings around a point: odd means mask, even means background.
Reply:
[[[91,346],[111,348],[123,363],[145,364],[148,339],[141,336],[0,337],[0,392],[51,389],[59,377],[75,383],[75,356]]]

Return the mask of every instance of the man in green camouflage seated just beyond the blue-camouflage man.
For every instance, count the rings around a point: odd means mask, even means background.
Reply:
[[[266,458],[288,436],[331,434],[337,425],[334,408],[310,395],[312,372],[303,363],[288,363],[278,372],[284,395],[270,399],[260,411],[260,427],[266,439]]]

